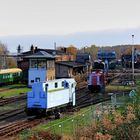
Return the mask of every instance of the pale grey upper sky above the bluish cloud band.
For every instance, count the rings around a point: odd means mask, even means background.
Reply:
[[[140,27],[140,0],[0,0],[0,36]]]

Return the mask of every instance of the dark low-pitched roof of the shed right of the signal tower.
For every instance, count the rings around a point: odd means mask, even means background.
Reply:
[[[56,62],[56,64],[65,65],[65,66],[73,67],[73,68],[86,66],[85,64],[77,63],[75,61],[58,61]]]

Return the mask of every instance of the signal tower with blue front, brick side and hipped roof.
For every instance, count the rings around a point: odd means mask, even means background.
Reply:
[[[38,51],[30,56],[28,69],[28,86],[34,82],[55,79],[55,57],[44,51]]]

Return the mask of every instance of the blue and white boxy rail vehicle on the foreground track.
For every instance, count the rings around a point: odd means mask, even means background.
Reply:
[[[57,112],[62,106],[75,106],[75,87],[73,78],[34,83],[27,93],[27,115],[44,115]]]

